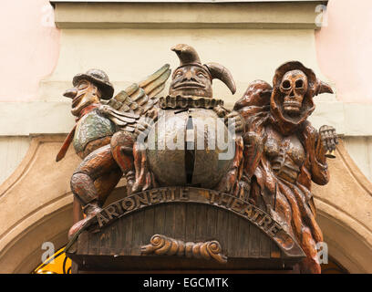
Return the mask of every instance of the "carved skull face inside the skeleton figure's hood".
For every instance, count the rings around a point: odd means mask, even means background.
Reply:
[[[286,114],[290,116],[300,114],[307,88],[307,77],[303,71],[292,70],[285,73],[280,91],[284,95],[283,109]]]

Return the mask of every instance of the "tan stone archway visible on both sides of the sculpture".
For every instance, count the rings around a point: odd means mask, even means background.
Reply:
[[[25,159],[0,186],[0,273],[30,273],[41,262],[44,242],[66,245],[72,224],[69,178],[79,159],[70,149],[55,162],[64,135],[32,139]],[[331,182],[314,186],[318,221],[329,254],[350,273],[372,273],[372,183],[342,142],[329,162]],[[113,193],[113,197],[117,194]]]

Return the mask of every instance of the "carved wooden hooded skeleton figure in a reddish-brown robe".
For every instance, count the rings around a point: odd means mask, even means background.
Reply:
[[[277,68],[274,88],[257,80],[238,100],[246,122],[244,175],[251,182],[248,200],[273,215],[305,251],[303,273],[320,273],[316,243],[323,241],[315,222],[311,181],[329,181],[326,152],[336,149],[336,130],[315,130],[307,117],[315,110],[313,97],[332,93],[300,62]]]

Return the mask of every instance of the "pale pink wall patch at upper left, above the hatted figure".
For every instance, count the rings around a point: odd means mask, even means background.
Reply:
[[[53,8],[48,0],[2,0],[0,10],[0,103],[36,99],[58,59]]]

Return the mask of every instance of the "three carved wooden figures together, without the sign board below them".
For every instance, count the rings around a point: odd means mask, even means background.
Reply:
[[[301,272],[320,273],[316,244],[323,235],[311,183],[328,183],[326,157],[337,141],[334,128],[315,130],[307,118],[315,110],[313,98],[332,89],[300,62],[287,62],[276,69],[273,87],[254,81],[228,110],[213,97],[212,79],[234,94],[231,72],[202,64],[191,46],[171,50],[181,62],[172,75],[165,65],[113,97],[106,73],[93,69],[77,75],[65,92],[77,126],[57,161],[73,142],[83,161],[71,190],[87,215],[69,236],[101,212],[123,176],[127,195],[194,186],[234,195],[270,214],[304,250]],[[157,98],[170,76],[169,95]],[[216,141],[221,132],[223,145]]]

